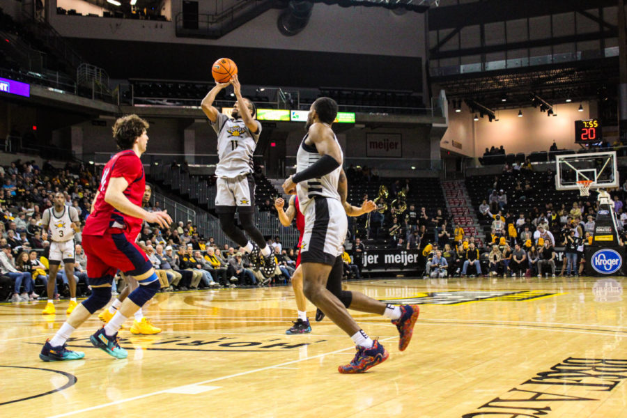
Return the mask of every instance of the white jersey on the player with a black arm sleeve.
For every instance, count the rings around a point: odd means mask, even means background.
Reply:
[[[316,146],[314,144],[305,144],[305,140],[308,136],[309,134],[306,134],[304,136],[302,142],[300,143],[300,147],[298,147],[298,152],[296,153],[297,173],[311,167],[312,164],[320,160],[320,154],[318,154],[318,149],[316,148]],[[335,135],[333,135],[333,137],[337,142],[337,137]],[[344,154],[342,153],[341,148],[340,155],[343,161]],[[336,169],[328,174],[325,174],[321,178],[312,178],[311,180],[302,181],[296,185],[298,204],[301,207],[301,212],[304,213],[304,208],[306,208],[308,203],[312,199],[314,199],[314,196],[324,196],[341,201],[340,195],[337,192],[337,183],[341,171],[342,167],[340,164],[340,167],[337,167]]]

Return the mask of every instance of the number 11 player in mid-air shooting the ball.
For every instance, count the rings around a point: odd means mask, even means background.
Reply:
[[[229,84],[233,84],[237,98],[231,112],[233,119],[221,114],[212,106],[219,91]],[[251,253],[251,262],[261,265],[265,277],[272,277],[276,268],[274,256],[253,222],[255,182],[252,176],[252,158],[261,135],[261,123],[254,118],[255,106],[247,98],[242,98],[240,82],[237,75],[234,75],[229,83],[217,83],[203,99],[201,107],[217,133],[219,162],[215,169],[217,176],[215,212],[220,219],[222,231],[245,251]],[[250,242],[242,230],[235,226],[235,210],[238,211],[242,228],[253,242]]]

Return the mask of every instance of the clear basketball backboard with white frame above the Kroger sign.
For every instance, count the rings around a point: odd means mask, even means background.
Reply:
[[[591,189],[619,187],[615,151],[555,156],[555,189],[578,190],[577,182],[591,180]]]

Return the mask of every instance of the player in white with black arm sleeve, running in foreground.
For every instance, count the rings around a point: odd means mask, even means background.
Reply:
[[[341,169],[343,153],[331,125],[337,116],[337,103],[318,98],[307,116],[307,135],[296,156],[296,174],[283,184],[287,194],[298,194],[305,218],[301,246],[304,295],[326,316],[350,335],[357,355],[340,373],[363,373],[387,359],[389,353],[373,341],[348,314],[348,308],[380,314],[392,319],[405,350],[411,339],[419,309],[385,304],[362,293],[342,290],[341,245],[346,237],[346,175]]]

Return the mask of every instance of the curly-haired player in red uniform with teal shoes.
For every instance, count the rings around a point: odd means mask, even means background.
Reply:
[[[84,353],[65,348],[65,342],[91,314],[107,305],[111,299],[111,282],[118,270],[137,279],[140,286],[128,295],[109,323],[95,332],[90,340],[105,353],[126,358],[126,350],[118,345],[118,330],[126,318],[144,306],[160,288],[146,253],[134,243],[144,220],[163,228],[172,222],[166,212],[148,212],[141,208],[146,176],[139,157],[146,152],[146,130],[148,123],[137,115],[124,116],[114,124],[113,136],[121,152],[104,166],[91,215],[82,234],[91,295],[72,311],[59,332],[46,341],[39,355],[45,362],[84,357]]]

